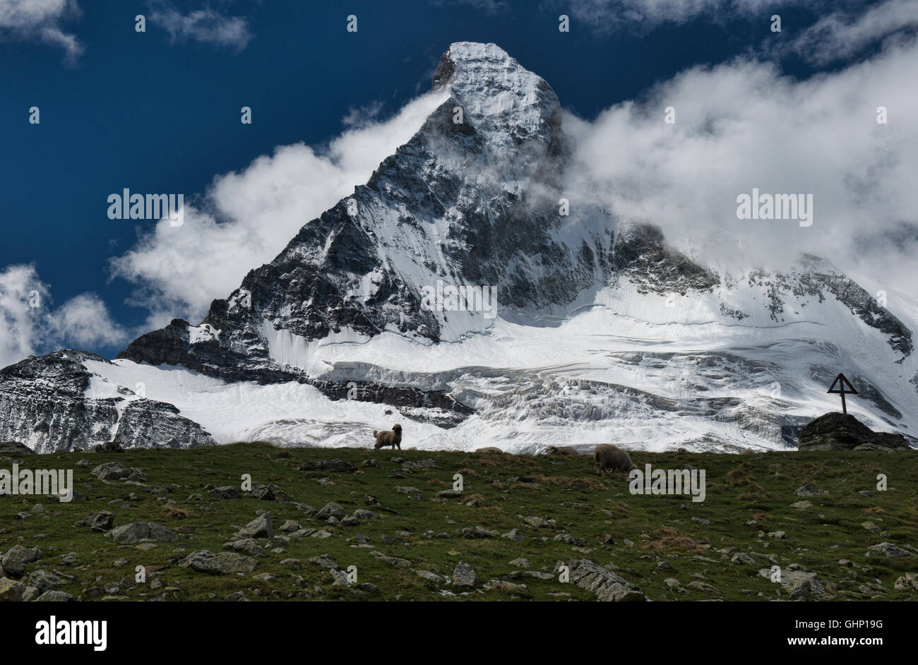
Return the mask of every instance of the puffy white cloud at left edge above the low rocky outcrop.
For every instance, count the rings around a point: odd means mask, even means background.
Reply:
[[[119,344],[129,338],[95,294],[77,295],[58,308],[34,265],[0,271],[0,367],[62,347]]]

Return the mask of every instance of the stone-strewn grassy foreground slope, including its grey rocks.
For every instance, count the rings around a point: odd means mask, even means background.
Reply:
[[[77,490],[0,496],[0,600],[918,598],[915,451],[633,459],[705,470],[705,501],[588,456],[0,446]]]

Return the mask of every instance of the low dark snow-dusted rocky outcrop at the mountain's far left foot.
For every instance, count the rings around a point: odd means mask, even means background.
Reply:
[[[90,449],[115,441],[125,448],[196,448],[214,440],[173,405],[106,385],[84,366],[107,360],[62,350],[0,370],[0,440],[36,452]]]

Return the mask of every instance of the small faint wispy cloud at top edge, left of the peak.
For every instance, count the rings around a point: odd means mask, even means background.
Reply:
[[[151,0],[150,22],[165,28],[172,41],[194,39],[205,44],[243,50],[252,39],[245,17],[226,17],[216,9],[182,14],[167,0]]]

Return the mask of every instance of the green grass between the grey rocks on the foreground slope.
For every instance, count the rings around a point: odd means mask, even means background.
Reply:
[[[341,458],[360,464],[371,457],[382,463],[382,469],[361,467],[361,473],[322,474],[294,468],[302,460]],[[389,475],[401,466],[390,461],[394,457],[433,459],[438,468],[406,473],[407,477],[402,480],[392,479]],[[92,465],[75,466],[82,458],[92,460]],[[464,560],[472,564],[479,579],[487,583],[509,579],[508,573],[518,570],[509,561],[518,557],[530,561],[530,570],[548,572],[553,571],[558,560],[586,557],[600,565],[611,563],[622,577],[639,585],[648,598],[656,601],[788,598],[786,593],[779,592],[778,584],[757,575],[759,568],[770,564],[756,553],[775,556],[784,566],[797,562],[807,570],[818,571],[823,581],[834,584],[838,598],[868,598],[856,588],[874,578],[879,578],[886,589],[881,597],[909,598],[908,592],[894,591],[893,582],[903,571],[918,570],[918,558],[868,560],[865,553],[868,546],[882,541],[918,545],[918,455],[915,453],[775,452],[732,456],[639,452],[633,454],[633,459],[641,468],[645,462],[664,468],[676,468],[688,462],[705,469],[707,500],[692,503],[687,496],[631,495],[623,475],[600,480],[594,475],[592,460],[586,456],[549,458],[420,450],[284,450],[258,443],[196,450],[130,450],[112,455],[27,456],[21,468],[73,468],[76,487],[89,495],[90,500],[59,504],[44,497],[0,498],[0,550],[5,552],[17,543],[38,546],[44,556],[29,564],[28,571],[43,565],[73,575],[73,583],[62,591],[84,599],[101,592],[98,588],[94,593],[87,592],[92,587],[110,586],[132,577],[136,565],[145,565],[149,571],[161,567],[162,588],[151,590],[149,583],[120,583],[118,595],[135,600],[149,599],[161,594],[166,587],[177,587],[178,591],[169,591],[165,598],[220,599],[235,591],[246,593],[252,600],[258,597],[358,597],[359,594],[349,589],[332,587],[330,572],[308,562],[310,557],[322,554],[330,555],[341,569],[357,566],[358,581],[372,582],[378,587],[377,592],[367,596],[372,599],[397,596],[402,600],[508,598],[498,590],[465,596],[443,595],[421,580],[414,570],[450,576],[456,562]],[[121,481],[99,482],[90,476],[89,471],[95,464],[109,460],[140,467],[148,483],[172,487],[174,492],[147,493]],[[9,469],[10,462],[4,460],[0,467]],[[454,499],[431,500],[436,492],[452,485],[456,471],[465,474],[467,496],[464,501],[476,495],[479,498],[477,506],[459,504]],[[875,479],[880,472],[889,476],[887,492],[876,491]],[[197,549],[221,551],[222,544],[235,533],[235,527],[247,524],[258,510],[271,511],[275,531],[285,519],[295,519],[302,526],[321,526],[293,504],[252,498],[209,498],[205,485],[238,486],[242,473],[252,474],[254,482],[276,483],[293,501],[310,504],[317,510],[326,502],[336,501],[349,511],[368,508],[379,518],[361,526],[333,527],[333,538],[291,538],[285,553],[269,553],[258,560],[253,573],[241,576],[214,576],[174,565],[180,557]],[[316,481],[326,475],[334,484],[323,485]],[[536,482],[512,482],[517,476],[534,476]],[[829,493],[815,497],[795,496],[794,490],[804,482],[812,482]],[[397,485],[417,487],[424,498],[397,493]],[[863,496],[859,490],[870,490],[873,496]],[[128,500],[132,492],[137,493],[136,500]],[[367,494],[374,495],[380,504],[396,510],[398,515],[380,512],[365,504]],[[117,499],[129,505],[110,504]],[[811,501],[812,508],[790,506],[802,499]],[[13,517],[17,512],[28,511],[37,501],[44,504],[47,512],[30,515],[24,520]],[[167,502],[174,504],[166,505]],[[144,551],[136,546],[115,545],[110,538],[92,533],[85,526],[74,526],[86,515],[101,510],[115,514],[116,526],[136,521],[168,526],[179,531],[180,541],[161,543]],[[526,526],[523,518],[529,515],[554,519],[561,530]],[[693,516],[711,523],[693,522]],[[758,525],[747,525],[754,517]],[[889,535],[869,532],[861,526],[867,520],[888,531]],[[457,531],[465,526],[484,526],[498,533],[516,527],[524,538],[519,543],[499,537],[462,538]],[[452,538],[423,536],[428,529],[449,532]],[[787,537],[760,537],[760,529],[785,531]],[[357,531],[373,539],[372,548],[353,547]],[[409,544],[383,544],[383,534],[394,535],[399,531],[410,532],[406,537]],[[582,538],[587,549],[554,541],[559,532]],[[615,544],[602,545],[599,537],[603,534],[610,534]],[[633,541],[633,546],[626,545],[625,539]],[[735,546],[735,551],[752,553],[756,563],[733,564],[730,562],[733,552],[724,555],[716,551],[730,546]],[[177,549],[184,549],[184,552],[176,552]],[[375,559],[370,556],[373,549],[409,560],[411,569],[394,568]],[[60,558],[69,552],[76,553],[77,563],[62,565]],[[696,559],[696,555],[708,560]],[[121,558],[128,560],[128,564],[116,567],[115,561]],[[280,563],[288,558],[295,558],[300,563]],[[655,572],[656,564],[662,559],[668,560],[672,568]],[[872,571],[868,574],[861,571],[853,581],[852,572],[838,564],[841,559],[869,565]],[[268,582],[254,579],[263,573],[276,577]],[[297,575],[303,582],[297,581]],[[97,577],[101,582],[96,582]],[[695,590],[677,593],[664,582],[669,577],[677,578],[683,587],[695,580],[707,582],[717,593]],[[572,584],[557,582],[556,578],[540,581],[527,577],[514,582],[525,582],[537,600],[564,597],[548,595],[557,592],[570,593],[571,597],[583,600],[593,597]]]

